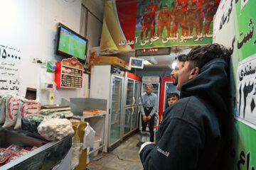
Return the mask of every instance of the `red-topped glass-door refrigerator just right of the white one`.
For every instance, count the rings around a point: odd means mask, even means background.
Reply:
[[[139,126],[139,96],[142,79],[126,72],[124,78],[124,103],[122,111],[122,138],[129,136]]]

